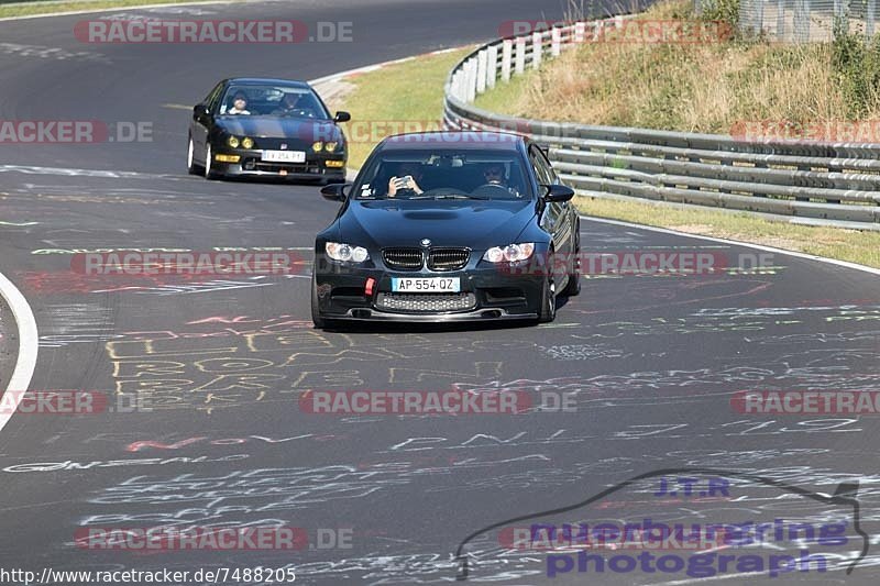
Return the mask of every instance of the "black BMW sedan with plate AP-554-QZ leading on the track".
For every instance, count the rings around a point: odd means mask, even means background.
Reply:
[[[311,313],[338,320],[552,321],[580,290],[578,213],[541,148],[514,134],[385,139],[315,242]]]

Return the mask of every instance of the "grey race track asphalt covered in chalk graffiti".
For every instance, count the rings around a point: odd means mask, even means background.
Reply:
[[[185,172],[188,111],[167,104],[196,103],[220,78],[314,79],[490,40],[504,21],[558,19],[565,9],[535,0],[304,0],[119,12],[353,23],[352,43],[295,46],[86,45],[74,25],[98,16],[0,22],[0,119],[153,125],[151,142],[0,145],[0,272],[25,295],[40,328],[31,389],[94,390],[112,408],[15,413],[2,429],[2,566],[190,575],[292,567],[302,584],[444,583],[455,581],[460,543],[483,528],[575,506],[637,475],[711,467],[666,474],[702,478],[696,496],[652,497],[654,479],[560,516],[844,522],[845,543],[809,544],[827,553],[827,572],[770,578],[728,568],[700,578],[625,571],[620,562],[619,572],[587,575],[575,564],[551,578],[547,552],[505,548],[492,530],[463,546],[476,562],[469,581],[876,584],[876,548],[844,572],[862,549],[851,502],[821,496],[858,483],[858,529],[873,535],[878,418],[732,407],[744,390],[878,390],[876,275],[584,218],[585,251],[708,252],[734,268],[593,275],[541,327],[318,331],[309,316],[309,250],[336,206],[310,186],[206,181]],[[206,280],[72,269],[72,251],[147,247],[283,247],[301,256],[302,270]],[[736,269],[759,254],[769,255],[761,269]],[[546,408],[344,417],[300,407],[308,389],[453,388],[516,390]],[[139,397],[152,410],[131,407]],[[563,400],[566,409],[551,408]],[[729,491],[705,490],[728,473]],[[94,528],[158,524],[296,527],[314,546],[132,552],[76,541]],[[318,544],[331,529],[344,530],[337,533],[342,544]],[[767,557],[773,550],[756,551]]]

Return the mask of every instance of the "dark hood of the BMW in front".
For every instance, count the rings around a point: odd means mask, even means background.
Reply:
[[[376,248],[469,246],[474,250],[509,244],[535,217],[535,202],[426,200],[351,201],[340,218],[340,237]]]

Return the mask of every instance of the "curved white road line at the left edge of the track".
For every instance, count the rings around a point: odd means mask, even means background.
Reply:
[[[28,300],[12,281],[1,273],[0,296],[6,299],[10,309],[12,309],[12,317],[15,318],[15,323],[19,328],[19,356],[7,389],[7,391],[14,391],[11,401],[14,402],[14,408],[12,408],[11,402],[8,402],[9,408],[0,411],[0,431],[2,431],[9,420],[12,419],[22,398],[24,398],[24,391],[31,386],[31,378],[36,367],[40,334],[36,331],[36,320],[33,311],[31,311],[31,306],[28,305]]]

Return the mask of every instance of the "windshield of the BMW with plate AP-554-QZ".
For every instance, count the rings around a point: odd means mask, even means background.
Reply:
[[[386,151],[354,186],[355,199],[507,199],[531,197],[528,175],[515,152]]]

